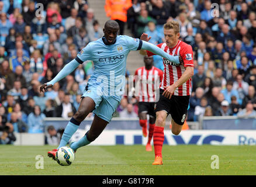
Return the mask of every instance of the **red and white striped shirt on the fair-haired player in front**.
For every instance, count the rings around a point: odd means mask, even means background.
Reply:
[[[169,60],[163,58],[162,62],[164,63],[164,78],[160,84],[160,88],[164,89],[164,86],[169,86],[174,84],[181,78],[181,75],[185,71],[185,67],[194,66],[193,65],[193,50],[191,45],[186,44],[184,41],[178,41],[175,47],[168,47],[166,43],[160,43],[157,45],[166,53],[171,54],[172,56],[181,56],[184,64],[174,64]],[[148,56],[153,56],[154,53],[147,51]],[[186,96],[191,95],[192,86],[191,78],[188,81],[184,82],[181,86],[175,89],[174,95],[177,96]]]

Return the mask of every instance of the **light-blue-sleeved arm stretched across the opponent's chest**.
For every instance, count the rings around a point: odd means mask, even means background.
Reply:
[[[141,49],[151,51],[154,54],[158,54],[159,56],[166,58],[167,60],[172,61],[175,64],[180,63],[178,56],[171,56],[168,53],[165,53],[164,50],[160,49],[159,47],[155,46],[154,44],[148,43],[147,41],[143,41]]]

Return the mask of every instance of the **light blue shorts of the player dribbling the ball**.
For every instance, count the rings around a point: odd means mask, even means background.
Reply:
[[[82,97],[89,97],[94,100],[95,109],[92,112],[106,122],[111,121],[113,113],[116,111],[122,98],[121,96],[102,95],[99,91],[97,92],[95,87],[88,88]]]

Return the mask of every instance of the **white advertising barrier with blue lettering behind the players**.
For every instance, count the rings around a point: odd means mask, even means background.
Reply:
[[[78,129],[72,136],[72,140],[79,140],[87,130]],[[184,130],[178,136],[165,130],[164,144],[175,146],[182,144],[212,144],[212,145],[255,145],[256,130]],[[17,133],[17,146],[41,146],[44,145],[44,134]],[[114,145],[146,145],[147,138],[141,135],[141,130],[105,130],[90,145],[114,146]],[[153,140],[151,141],[153,143]]]

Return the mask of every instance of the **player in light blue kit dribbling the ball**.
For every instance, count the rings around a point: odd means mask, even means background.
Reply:
[[[40,92],[47,91],[47,88],[52,87],[56,82],[66,77],[79,64],[87,60],[94,61],[94,74],[89,78],[78,111],[65,127],[58,148],[66,146],[71,136],[77,131],[79,124],[92,111],[95,117],[91,128],[84,137],[71,143],[70,147],[77,151],[79,147],[86,146],[94,141],[105,129],[112,119],[124,92],[126,58],[130,51],[145,49],[177,64],[181,59],[178,56],[170,56],[164,50],[147,41],[129,36],[117,36],[119,25],[114,20],[108,20],[105,23],[103,32],[104,36],[101,39],[89,43],[74,60],[65,65],[56,77],[40,87]],[[48,156],[55,160],[57,149],[49,151]]]

